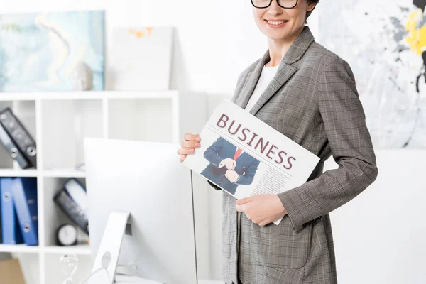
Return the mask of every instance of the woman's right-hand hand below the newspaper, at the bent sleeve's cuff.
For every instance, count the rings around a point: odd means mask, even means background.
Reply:
[[[287,214],[278,195],[253,195],[236,200],[236,211],[244,212],[247,218],[259,226],[265,226]]]

